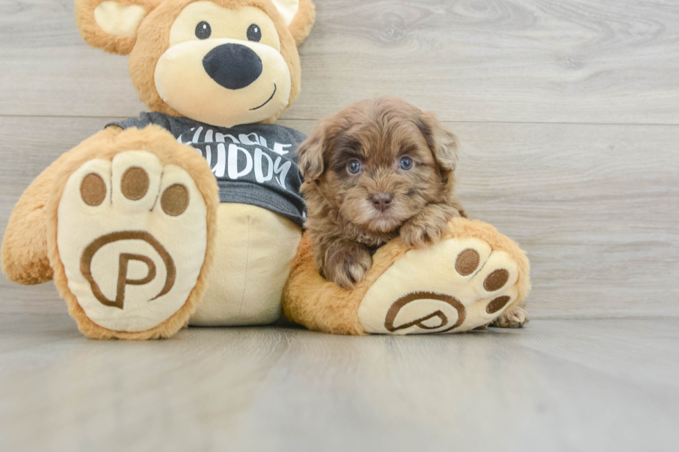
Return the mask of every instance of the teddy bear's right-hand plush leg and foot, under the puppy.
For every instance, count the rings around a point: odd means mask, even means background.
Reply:
[[[524,252],[493,226],[455,218],[441,242],[414,249],[393,240],[351,290],[326,282],[304,237],[283,291],[294,322],[335,334],[462,332],[527,322]],[[496,320],[499,319],[499,320]]]

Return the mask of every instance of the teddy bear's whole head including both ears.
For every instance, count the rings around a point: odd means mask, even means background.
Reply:
[[[224,127],[290,107],[314,17],[311,0],[76,0],[82,38],[130,55],[151,111]]]

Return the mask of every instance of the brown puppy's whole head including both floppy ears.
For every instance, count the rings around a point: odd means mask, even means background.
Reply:
[[[305,192],[318,190],[349,222],[386,233],[452,196],[457,138],[432,114],[378,98],[323,120],[299,161]]]

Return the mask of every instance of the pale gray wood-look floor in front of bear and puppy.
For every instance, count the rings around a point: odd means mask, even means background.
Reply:
[[[366,338],[89,341],[0,317],[7,451],[676,451],[679,319]]]

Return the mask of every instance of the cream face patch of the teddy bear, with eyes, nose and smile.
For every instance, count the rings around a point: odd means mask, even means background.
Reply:
[[[257,123],[288,105],[291,75],[272,19],[254,6],[188,4],[155,66],[160,98],[212,125]]]

